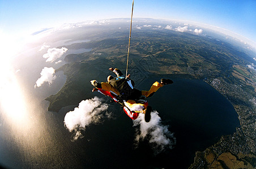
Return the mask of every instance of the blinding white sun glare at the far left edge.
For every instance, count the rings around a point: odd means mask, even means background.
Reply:
[[[0,31],[0,103],[1,109],[12,121],[24,121],[26,110],[25,95],[22,93],[11,59],[17,54],[14,39],[8,39]]]

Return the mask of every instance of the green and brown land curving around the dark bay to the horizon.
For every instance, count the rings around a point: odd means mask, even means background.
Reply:
[[[125,70],[126,39],[116,33],[65,46],[92,50],[65,57],[68,64],[57,71],[62,70],[67,80],[56,95],[46,99],[50,101],[49,110],[58,112],[63,106],[78,105],[85,97],[92,97],[88,95],[89,77],[105,79],[110,65]],[[195,153],[190,168],[256,167],[256,72],[248,67],[254,63],[252,57],[224,40],[159,30],[157,34],[134,32],[129,59],[129,73],[136,84],[152,74],[189,74],[203,79],[234,106],[241,127],[203,152]]]

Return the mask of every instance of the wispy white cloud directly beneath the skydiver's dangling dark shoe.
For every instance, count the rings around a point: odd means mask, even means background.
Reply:
[[[151,112],[151,121],[144,121],[144,114],[140,113],[139,117],[133,121],[136,129],[135,142],[138,145],[140,140],[146,137],[152,145],[155,153],[163,152],[165,149],[172,149],[176,144],[176,138],[168,130],[168,126],[161,124],[161,118],[156,111]]]

